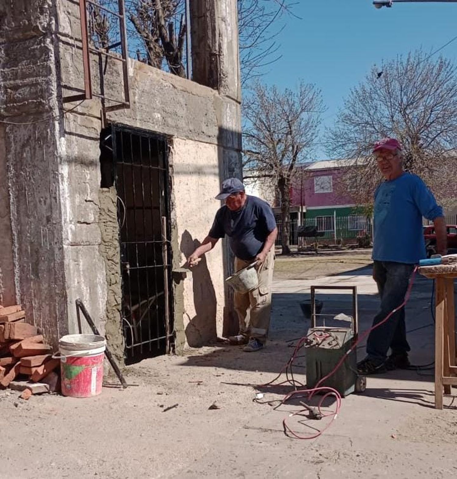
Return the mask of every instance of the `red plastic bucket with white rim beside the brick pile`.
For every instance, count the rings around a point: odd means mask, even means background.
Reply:
[[[102,392],[106,340],[95,334],[68,334],[59,340],[62,394],[90,398]]]

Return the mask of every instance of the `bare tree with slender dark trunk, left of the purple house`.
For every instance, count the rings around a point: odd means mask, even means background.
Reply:
[[[243,107],[245,171],[277,185],[284,254],[290,253],[290,186],[317,136],[321,112],[320,91],[304,82],[297,91],[279,91],[257,82]]]

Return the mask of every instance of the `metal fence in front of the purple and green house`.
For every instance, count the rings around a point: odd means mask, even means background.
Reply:
[[[278,236],[276,238],[276,246],[281,246],[282,220],[276,217],[276,225],[278,228]],[[360,238],[372,236],[373,221],[371,217],[364,215],[348,215],[335,217],[318,216],[314,218],[304,218],[301,225],[298,224],[297,218],[290,220],[290,238],[289,244],[292,246],[301,245],[306,242],[312,244],[314,242],[325,242],[331,244],[339,243],[357,243]],[[320,236],[299,238],[299,227],[316,227]]]

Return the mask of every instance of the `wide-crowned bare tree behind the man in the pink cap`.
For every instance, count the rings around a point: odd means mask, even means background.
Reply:
[[[372,202],[381,180],[371,149],[382,137],[400,140],[405,168],[442,203],[456,196],[454,186],[446,187],[457,174],[457,78],[450,60],[416,51],[372,68],[350,92],[335,125],[329,150],[358,159],[357,168],[347,168],[344,188],[359,204]]]

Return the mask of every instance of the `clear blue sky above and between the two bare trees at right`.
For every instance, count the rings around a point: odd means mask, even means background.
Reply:
[[[301,19],[286,19],[278,37],[282,57],[263,81],[291,89],[299,79],[315,83],[327,107],[321,132],[372,65],[419,47],[431,53],[457,36],[457,3],[394,3],[379,10],[371,0],[297,3],[293,11]],[[440,54],[457,63],[457,40]],[[314,159],[328,159],[323,145]]]

